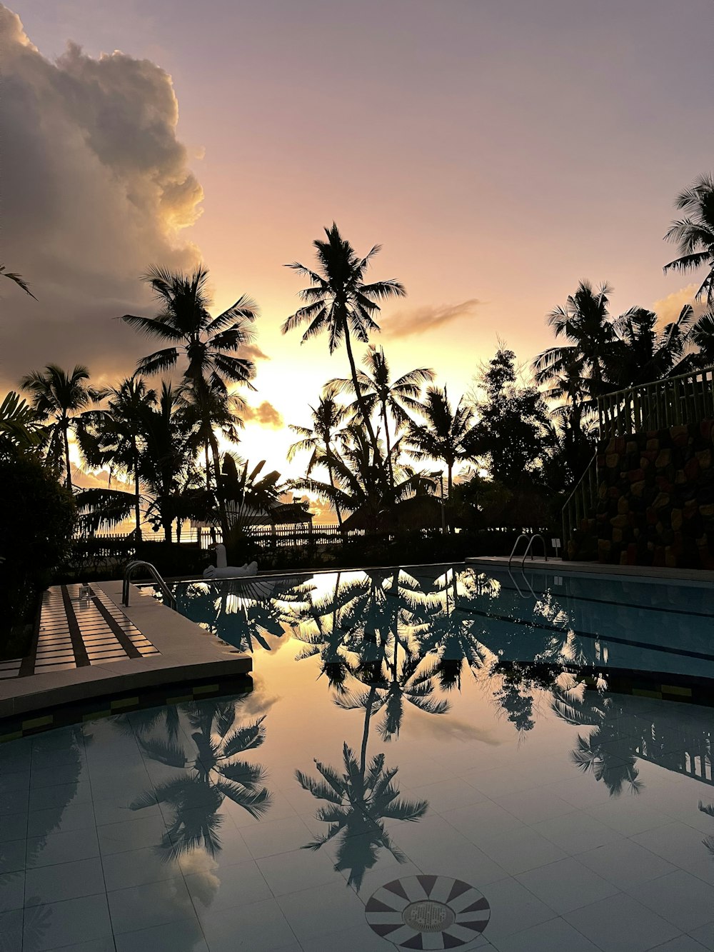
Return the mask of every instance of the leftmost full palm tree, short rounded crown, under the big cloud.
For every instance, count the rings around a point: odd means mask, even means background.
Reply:
[[[79,414],[100,400],[103,391],[89,387],[89,370],[78,364],[68,373],[56,364],[48,364],[43,373],[33,370],[20,381],[31,394],[32,407],[48,425],[48,458],[59,462],[64,451],[66,482],[72,488],[69,465],[69,429],[77,426]]]

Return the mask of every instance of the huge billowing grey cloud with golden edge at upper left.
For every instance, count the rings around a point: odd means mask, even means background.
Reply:
[[[0,384],[50,361],[86,363],[98,379],[128,373],[147,343],[110,318],[153,309],[139,281],[150,264],[199,258],[181,240],[203,189],[176,138],[171,78],[149,60],[92,59],[74,44],[52,63],[1,4],[0,57],[0,123],[12,129],[3,258],[38,298],[2,288]]]

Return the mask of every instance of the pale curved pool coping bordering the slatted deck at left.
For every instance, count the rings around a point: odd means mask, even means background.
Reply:
[[[2,681],[0,720],[163,684],[241,677],[252,670],[252,657],[156,599],[142,596],[136,586],[130,587],[129,607],[120,605],[121,581],[95,582],[92,587],[119,605],[160,654]]]

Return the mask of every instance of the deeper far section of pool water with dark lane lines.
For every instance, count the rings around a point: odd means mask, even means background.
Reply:
[[[347,651],[370,626],[421,658],[714,680],[714,585],[464,565],[180,584],[178,610],[243,651],[285,631]],[[328,637],[324,637],[327,635]]]

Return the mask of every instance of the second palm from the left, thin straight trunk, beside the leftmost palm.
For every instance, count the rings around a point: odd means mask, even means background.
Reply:
[[[141,458],[142,428],[147,407],[156,403],[156,391],[137,376],[128,377],[105,391],[107,407],[83,414],[77,441],[85,458],[95,466],[109,466],[109,473],[128,475],[134,484],[134,520],[137,540],[141,540]]]

